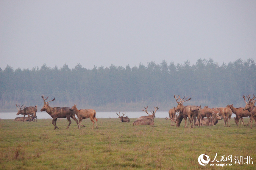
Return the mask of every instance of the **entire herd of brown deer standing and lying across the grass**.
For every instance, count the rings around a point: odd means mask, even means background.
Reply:
[[[178,98],[177,98],[178,97]],[[218,107],[218,108],[209,108],[208,106],[205,106],[204,108],[201,108],[201,106],[192,106],[192,105],[187,105],[184,106],[182,103],[185,101],[191,100],[191,97],[186,97],[181,98],[179,95],[175,96],[174,98],[176,99],[177,102],[177,107],[173,107],[172,109],[169,110],[169,117],[166,117],[166,120],[171,120],[171,125],[173,125],[173,122],[176,123],[176,126],[179,127],[180,123],[182,120],[185,120],[185,128],[188,127],[187,125],[187,118],[189,120],[189,124],[191,124],[191,127],[199,126],[200,125],[216,125],[218,123],[218,120],[221,120],[222,118],[224,119],[224,126],[227,125],[230,126],[230,119],[232,113],[236,115],[235,117],[235,123],[238,126],[239,120],[243,122],[243,117],[249,117],[250,122],[247,124],[247,126],[251,123],[251,128],[252,128],[252,123],[253,119],[255,120],[254,125],[256,124],[256,106],[255,106],[255,95],[251,98],[251,96],[242,96],[244,99],[244,102],[246,103],[245,107],[242,108],[235,108],[233,107],[233,104],[227,105],[227,107]],[[188,98],[188,99],[187,99]],[[71,124],[70,118],[74,119],[78,125],[78,128],[80,129],[80,125],[82,125],[81,122],[83,119],[90,118],[90,120],[93,123],[94,128],[94,120],[96,121],[96,128],[98,128],[98,119],[96,119],[96,111],[93,109],[77,109],[77,105],[75,104],[73,107],[50,107],[49,102],[54,101],[52,99],[51,101],[47,101],[48,97],[45,99],[44,96],[42,96],[44,105],[42,109],[40,110],[41,112],[46,111],[51,117],[52,117],[52,124],[54,125],[54,129],[58,128],[56,126],[57,118],[67,118],[68,120],[68,127]],[[246,101],[246,99],[248,101]],[[18,109],[17,115],[24,115],[23,117],[16,117],[14,120],[15,121],[32,121],[35,120],[37,121],[37,106],[35,107],[26,107],[26,106],[19,106],[16,104],[16,107]],[[19,107],[19,108],[18,108]],[[148,115],[147,116],[141,116],[138,119],[136,119],[133,122],[133,125],[154,125],[154,117],[156,111],[159,109],[159,107],[154,107],[154,111],[150,111],[152,114],[148,113],[148,107],[145,107],[145,109],[142,109],[145,111]],[[178,114],[176,114],[178,113]],[[118,115],[118,113],[116,112]],[[27,117],[25,117],[27,115]],[[31,116],[30,116],[31,115]],[[75,115],[77,115],[78,120],[76,119]],[[122,113],[122,116],[120,116],[120,112],[118,117],[120,118],[120,122],[130,122],[129,117],[124,116],[125,113]],[[207,117],[207,118],[204,118]],[[197,120],[196,120],[197,118]],[[229,122],[228,122],[229,120]],[[244,122],[243,122],[243,125]],[[67,127],[67,129],[68,129]]]

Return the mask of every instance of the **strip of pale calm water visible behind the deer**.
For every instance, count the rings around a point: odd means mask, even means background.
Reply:
[[[17,116],[16,114],[17,112],[0,113],[0,119],[15,119],[15,117],[23,116],[23,115]],[[48,115],[48,113],[46,112],[37,112],[36,115],[38,119],[51,119],[51,116]],[[125,112],[125,116],[128,116],[129,118],[137,118],[145,115],[147,115],[145,112]],[[168,112],[156,112],[155,116],[157,118],[163,118],[168,116]],[[116,115],[116,112],[96,112],[96,117],[97,118],[118,118],[118,116]],[[232,114],[232,117],[235,117],[235,114]]]

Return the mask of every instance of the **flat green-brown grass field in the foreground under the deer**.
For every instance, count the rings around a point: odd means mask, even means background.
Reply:
[[[256,127],[224,127],[223,120],[213,127],[179,128],[171,121],[155,118],[154,126],[133,126],[119,119],[99,119],[98,129],[83,120],[79,130],[66,119],[58,119],[54,130],[51,119],[38,122],[0,120],[0,169],[256,169]],[[248,118],[245,118],[248,122]],[[95,126],[96,127],[96,126]],[[213,161],[232,155],[231,167],[202,166],[198,157],[206,154]],[[243,164],[235,164],[235,156]],[[253,164],[244,164],[244,158]],[[216,162],[214,162],[216,164]]]

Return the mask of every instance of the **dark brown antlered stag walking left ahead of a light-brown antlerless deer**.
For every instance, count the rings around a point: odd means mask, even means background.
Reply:
[[[52,117],[51,123],[54,125],[54,130],[56,128],[59,129],[56,126],[57,118],[67,118],[68,119],[68,127],[66,129],[69,128],[69,125],[71,124],[70,118],[72,118],[76,121],[76,123],[78,125],[78,129],[80,129],[78,120],[76,119],[76,116],[75,116],[74,109],[72,109],[70,107],[50,107],[49,102],[54,101],[55,97],[51,101],[47,101],[47,102],[46,102],[46,100],[48,97],[46,99],[44,99],[44,96],[42,96],[42,98],[43,98],[44,105],[41,109],[41,112],[46,111],[46,113],[48,113]]]

